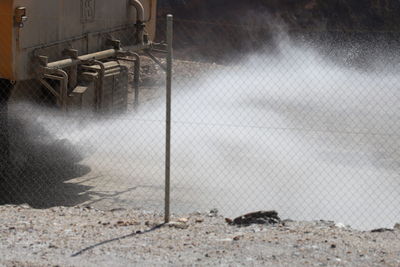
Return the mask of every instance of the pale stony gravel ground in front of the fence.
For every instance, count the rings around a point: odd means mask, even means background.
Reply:
[[[228,225],[218,214],[174,217],[91,208],[0,207],[0,266],[399,266],[400,230],[327,221]]]

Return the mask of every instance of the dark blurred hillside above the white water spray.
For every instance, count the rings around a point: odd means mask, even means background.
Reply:
[[[273,49],[283,31],[360,54],[397,49],[400,40],[397,0],[159,0],[159,39],[167,13],[175,17],[176,48],[194,59]]]

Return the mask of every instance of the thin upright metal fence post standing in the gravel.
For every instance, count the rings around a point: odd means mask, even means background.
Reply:
[[[172,89],[172,40],[173,16],[167,15],[167,116],[166,116],[166,142],[165,142],[165,223],[170,221],[171,200],[171,89]]]

